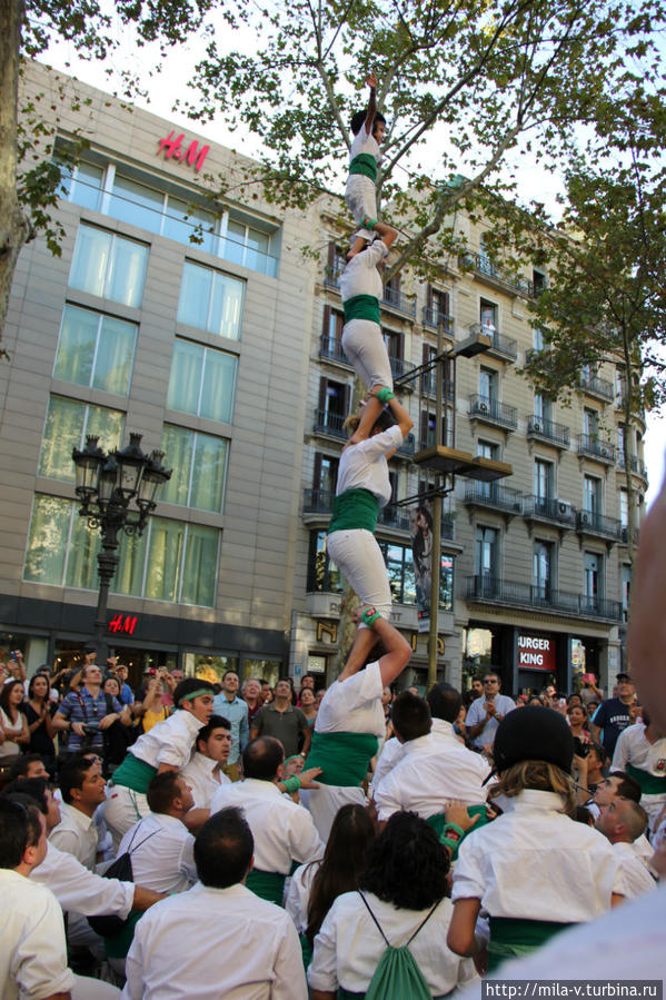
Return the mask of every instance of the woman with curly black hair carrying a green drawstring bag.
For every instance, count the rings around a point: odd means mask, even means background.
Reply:
[[[474,964],[445,944],[448,852],[414,813],[394,813],[370,844],[359,891],[335,900],[315,938],[312,1000],[364,996],[385,945],[407,945],[433,997],[476,978]],[[310,912],[314,898],[310,897]]]

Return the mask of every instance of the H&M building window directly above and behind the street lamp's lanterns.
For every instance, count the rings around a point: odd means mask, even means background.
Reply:
[[[82,448],[86,435],[93,434],[105,452],[120,447],[125,414],[106,406],[92,406],[51,396],[39,456],[39,475],[73,483],[72,448]]]

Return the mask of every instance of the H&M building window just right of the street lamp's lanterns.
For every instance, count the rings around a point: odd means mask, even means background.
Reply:
[[[162,502],[219,514],[225,501],[229,442],[165,424],[161,449],[173,468]]]

